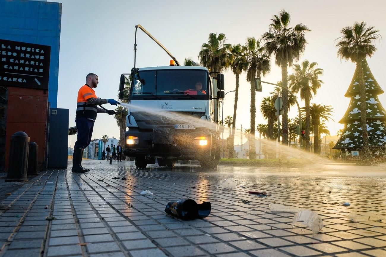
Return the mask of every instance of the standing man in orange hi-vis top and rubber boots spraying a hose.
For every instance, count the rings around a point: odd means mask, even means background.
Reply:
[[[86,76],[86,84],[79,89],[78,101],[76,104],[75,124],[78,129],[78,137],[74,146],[73,167],[72,172],[86,172],[88,169],[82,166],[83,151],[91,142],[95,119],[97,113],[115,114],[112,110],[105,111],[98,108],[100,104],[117,105],[119,102],[114,99],[100,99],[95,95],[93,88],[98,85],[98,76],[94,73],[89,73]]]

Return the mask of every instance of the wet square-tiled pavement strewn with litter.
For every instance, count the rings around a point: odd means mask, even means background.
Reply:
[[[133,165],[84,161],[88,173],[50,170],[25,183],[2,202],[8,209],[0,215],[0,257],[386,256],[386,220],[346,217],[386,215],[384,167],[379,176],[362,171],[364,177],[340,177],[339,169],[331,175],[309,169]],[[228,177],[238,181],[235,190],[221,188]],[[142,190],[154,195],[141,196]],[[268,195],[249,195],[249,190]],[[183,221],[164,213],[166,203],[184,198],[210,201],[211,215]],[[314,210],[325,227],[315,236],[306,227],[293,227],[295,213],[271,213],[268,205],[274,202]]]

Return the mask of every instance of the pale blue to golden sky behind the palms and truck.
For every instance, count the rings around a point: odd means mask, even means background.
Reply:
[[[355,64],[337,57],[336,41],[343,27],[354,22],[365,21],[374,26],[379,34],[386,32],[384,10],[386,2],[372,0],[301,1],[281,0],[239,0],[239,1],[127,1],[127,0],[62,0],[61,40],[59,57],[58,108],[68,108],[69,126],[75,126],[75,109],[78,90],[85,83],[85,76],[93,72],[99,77],[96,95],[101,98],[117,99],[119,77],[130,72],[134,66],[135,25],[141,24],[179,62],[185,57],[198,59],[201,45],[208,41],[210,33],[224,33],[227,43],[245,44],[247,37],[259,38],[267,32],[270,19],[284,9],[291,13],[291,25],[302,23],[311,30],[306,33],[303,60],[317,62],[324,70],[320,79],[324,82],[311,103],[331,105],[334,121],[327,123],[332,135],[343,124],[338,123],[349,106],[344,97],[354,75]],[[386,45],[376,43],[377,51],[368,58],[372,74],[383,90],[386,90],[384,59]],[[137,67],[168,66],[171,58],[141,30],[137,33]],[[281,80],[281,68],[271,58],[271,72],[262,77],[263,81],[276,83]],[[230,70],[224,71],[225,92],[235,89],[235,76]],[[288,74],[292,67],[288,68]],[[240,92],[236,128],[249,128],[250,84],[240,75]],[[266,123],[259,109],[263,97],[273,91],[273,86],[262,85],[262,92],[256,92],[256,124]],[[298,97],[298,101],[300,97]],[[386,107],[386,94],[379,95]],[[304,102],[300,102],[301,107]],[[105,108],[113,109],[110,105]],[[233,115],[234,93],[225,97],[224,114]],[[289,118],[297,115],[296,106],[289,112]],[[93,138],[119,138],[119,129],[113,116],[98,114]],[[71,138],[73,147],[75,136]],[[237,144],[238,142],[235,142]],[[70,141],[69,141],[70,146]]]

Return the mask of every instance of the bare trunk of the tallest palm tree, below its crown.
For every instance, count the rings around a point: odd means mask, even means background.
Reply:
[[[281,85],[288,88],[288,61],[285,59],[281,64]],[[283,116],[281,117],[282,126],[282,144],[288,144],[288,91],[282,89],[281,97],[283,97]],[[279,136],[279,135],[278,135]]]

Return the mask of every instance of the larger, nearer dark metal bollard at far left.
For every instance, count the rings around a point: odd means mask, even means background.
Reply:
[[[11,136],[9,152],[8,175],[5,182],[28,182],[27,165],[29,151],[29,136],[23,132],[16,132]]]

